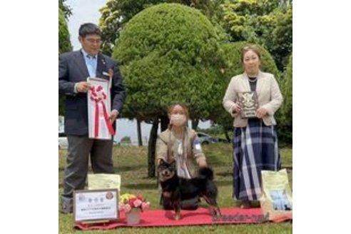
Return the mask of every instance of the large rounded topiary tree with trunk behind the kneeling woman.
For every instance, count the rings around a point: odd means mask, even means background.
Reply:
[[[158,4],[126,24],[113,58],[121,63],[128,93],[124,110],[154,123],[148,155],[148,175],[153,177],[155,123],[161,120],[161,126],[167,126],[167,107],[185,103],[190,118],[210,118],[218,105],[224,66],[218,35],[200,11]]]

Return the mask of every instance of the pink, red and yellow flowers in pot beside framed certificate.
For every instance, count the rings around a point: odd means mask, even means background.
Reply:
[[[133,195],[130,193],[124,193],[121,195],[119,210],[125,213],[131,212],[132,208],[140,208],[143,212],[147,210],[150,203],[143,198],[143,195]]]

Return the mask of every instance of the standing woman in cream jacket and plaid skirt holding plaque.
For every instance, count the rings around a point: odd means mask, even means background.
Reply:
[[[245,72],[231,78],[223,106],[234,118],[233,198],[250,208],[260,198],[260,172],[280,170],[274,113],[283,96],[273,74],[260,71],[256,46],[244,47],[241,61]]]

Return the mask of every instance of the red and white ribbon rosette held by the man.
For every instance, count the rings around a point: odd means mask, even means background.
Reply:
[[[98,133],[99,133],[99,116],[100,116],[100,108],[99,106],[102,107],[103,110],[103,119],[106,123],[106,126],[108,128],[108,133],[110,133],[112,136],[115,135],[115,131],[113,129],[112,123],[108,120],[108,113],[106,109],[106,105],[104,101],[107,98],[106,93],[103,91],[102,86],[92,86],[90,90],[90,95],[89,98],[91,101],[95,103],[95,121],[94,121],[94,137],[98,138]]]

